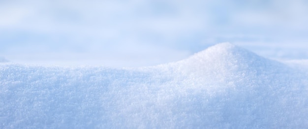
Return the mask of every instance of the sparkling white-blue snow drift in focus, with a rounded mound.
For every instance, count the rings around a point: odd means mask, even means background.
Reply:
[[[0,128],[304,129],[308,69],[297,66],[229,43],[153,67],[0,63]]]

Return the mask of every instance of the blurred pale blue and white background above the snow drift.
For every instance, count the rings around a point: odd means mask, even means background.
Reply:
[[[135,67],[230,42],[269,58],[307,59],[307,7],[307,0],[0,0],[0,56]]]

